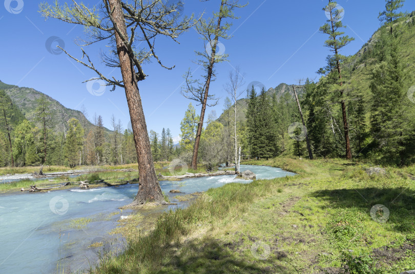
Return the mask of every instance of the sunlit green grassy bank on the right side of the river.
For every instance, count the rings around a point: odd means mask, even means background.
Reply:
[[[414,167],[368,176],[342,160],[253,161],[299,175],[227,184],[131,228],[94,273],[399,273],[415,268]],[[386,209],[372,218],[370,210]],[[376,212],[375,212],[376,213]],[[386,218],[385,218],[386,219]]]

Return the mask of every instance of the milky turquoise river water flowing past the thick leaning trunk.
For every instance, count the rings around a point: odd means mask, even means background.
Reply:
[[[254,172],[257,179],[295,175],[280,168],[241,165],[241,171],[247,169]],[[160,181],[160,187],[173,198],[177,194],[169,193],[172,189],[194,193],[230,182],[250,181],[223,175]],[[133,200],[137,188],[138,185],[124,185],[0,195],[0,273],[49,274],[57,270],[62,273],[62,268],[65,273],[76,272],[94,265],[102,249],[121,249],[122,241],[116,241],[117,236],[109,232],[116,227],[117,220],[131,214],[131,211],[121,213],[118,208]],[[185,205],[179,202],[160,211]],[[70,221],[78,218],[92,221]],[[103,245],[93,247],[94,242]]]

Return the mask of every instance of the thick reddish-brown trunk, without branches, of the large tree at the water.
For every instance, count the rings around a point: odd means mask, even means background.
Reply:
[[[153,156],[151,154],[150,140],[137,86],[136,74],[133,69],[133,62],[129,56],[129,54],[133,53],[128,51],[120,36],[122,35],[127,38],[124,13],[119,0],[109,0],[108,2],[111,11],[113,11],[111,18],[116,29],[115,40],[117,44],[117,54],[119,57],[122,80],[130,111],[131,126],[133,128],[135,149],[137,152],[139,189],[133,204],[142,204],[147,201],[163,201],[163,194],[157,180]]]

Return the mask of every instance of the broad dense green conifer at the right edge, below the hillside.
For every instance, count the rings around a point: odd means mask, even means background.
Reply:
[[[372,73],[370,125],[382,158],[403,165],[413,135],[413,111],[406,98],[406,72],[399,52],[399,41],[393,39],[387,61]]]

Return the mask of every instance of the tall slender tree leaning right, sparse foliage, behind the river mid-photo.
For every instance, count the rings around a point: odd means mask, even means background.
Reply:
[[[204,41],[204,52],[196,51],[196,55],[200,58],[196,63],[203,66],[206,74],[203,76],[203,81],[194,80],[190,70],[186,73],[186,86],[182,90],[182,94],[189,99],[199,102],[202,105],[200,111],[200,120],[197,127],[195,138],[195,145],[193,147],[192,169],[197,169],[197,153],[199,150],[200,136],[203,128],[203,119],[208,100],[214,98],[209,95],[209,87],[215,79],[214,66],[218,62],[226,60],[227,55],[224,54],[223,49],[218,49],[219,38],[230,39],[227,31],[231,28],[231,22],[225,22],[227,18],[237,19],[233,11],[235,8],[242,8],[246,5],[239,5],[239,0],[221,0],[219,12],[214,13],[212,17],[201,19],[196,24],[196,31],[202,36]],[[196,86],[195,86],[196,85]],[[215,103],[211,105],[216,105]]]

